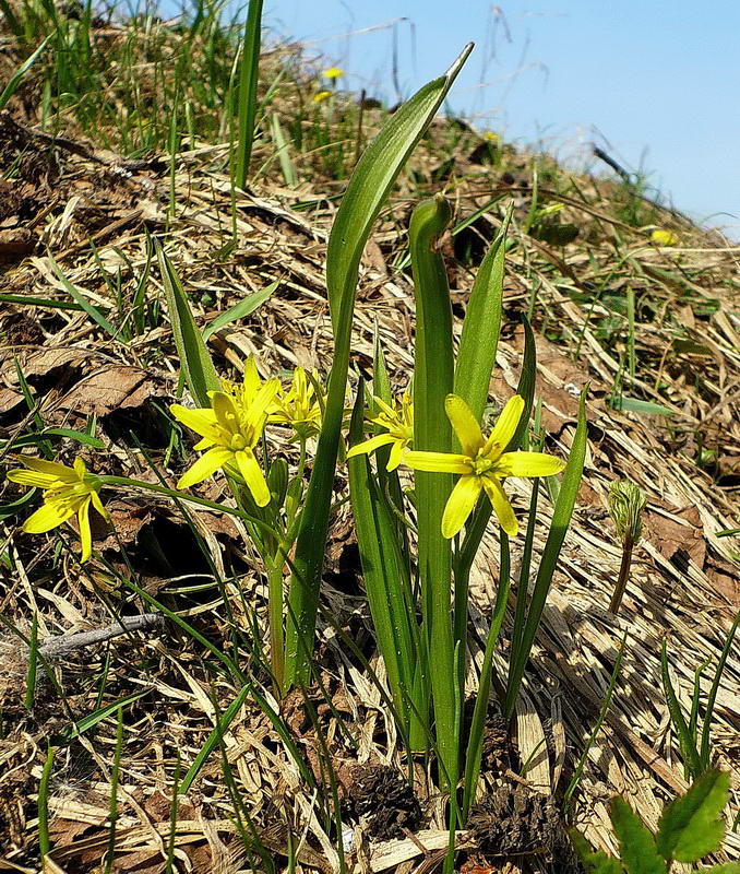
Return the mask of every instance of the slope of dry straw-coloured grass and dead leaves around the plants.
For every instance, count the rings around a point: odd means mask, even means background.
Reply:
[[[0,118],[5,180],[0,233],[8,235],[2,240],[11,239],[16,252],[7,252],[0,268],[0,293],[65,304],[76,300],[77,307],[84,299],[105,315],[114,336],[99,319],[96,323],[79,309],[0,304],[5,350],[0,364],[0,438],[34,426],[13,364],[16,355],[40,405],[41,424],[83,429],[96,416],[107,452],[89,453],[94,469],[151,475],[146,461],[151,457],[158,466],[167,466],[171,476],[191,453],[188,440],[171,430],[163,412],[177,391],[177,362],[158,304],[159,281],[151,264],[147,232],[167,240],[203,318],[211,319],[244,294],[281,280],[279,292],[268,305],[237,330],[214,335],[212,347],[225,370],[238,369],[244,355],[256,351],[277,370],[298,361],[318,363],[325,371],[325,234],[358,151],[379,129],[386,110],[360,110],[354,97],[341,93],[314,103],[324,83],[307,69],[300,49],[273,49],[262,62],[262,122],[251,188],[232,198],[228,142],[234,125],[236,26],[225,26],[206,9],[183,25],[151,19],[118,25],[88,20],[84,13],[64,17],[49,7],[45,11],[41,4],[26,5],[25,11],[13,5],[12,10],[14,17],[5,17],[0,34],[3,79],[53,28],[57,36],[7,107],[23,127]],[[63,143],[51,149],[48,139],[33,133],[37,126],[82,144],[82,154]],[[593,610],[608,600],[614,559],[609,552],[613,552],[610,534],[605,533],[604,483],[626,474],[641,481],[651,495],[655,520],[644,556],[648,568],[645,601],[634,594],[634,613],[628,615],[635,628],[642,628],[643,641],[655,642],[655,629],[672,633],[680,659],[676,668],[685,683],[705,657],[716,656],[731,613],[729,604],[738,592],[728,541],[715,536],[719,529],[737,525],[738,519],[740,416],[733,386],[740,355],[732,309],[737,253],[728,251],[717,234],[706,234],[645,200],[637,185],[573,175],[546,155],[516,151],[485,140],[458,120],[441,119],[382,216],[361,286],[357,364],[366,367],[369,363],[372,320],[379,318],[394,380],[399,383],[408,367],[413,315],[407,302],[408,215],[419,198],[439,190],[455,205],[457,224],[444,245],[457,315],[505,206],[512,199],[515,203],[505,300],[509,328],[496,399],[503,397],[502,389],[512,385],[509,377],[516,370],[521,338],[514,326],[522,312],[530,315],[540,336],[544,424],[565,446],[572,387],[593,380],[594,454],[592,476],[582,495],[578,547],[594,552],[585,569],[577,560],[569,564],[562,591],[576,603],[578,598],[592,599]],[[652,244],[652,226],[673,232],[678,245]],[[565,243],[573,231],[577,236]],[[96,249],[89,245],[91,237]],[[23,246],[25,255],[38,260],[24,258]],[[76,290],[76,298],[55,275],[44,258],[47,253]],[[625,398],[660,404],[673,415],[624,416],[616,408]],[[131,430],[145,452],[131,439]],[[56,440],[49,449],[69,459],[76,447]],[[8,489],[3,503],[19,496]],[[19,535],[15,520],[9,520],[2,560],[12,572],[2,592],[3,614],[27,634],[29,617],[37,613],[41,639],[71,626],[105,624],[119,613],[145,609],[142,595],[127,589],[126,581],[133,580],[168,609],[183,611],[186,621],[219,651],[238,653],[243,670],[263,683],[261,635],[251,630],[264,618],[264,591],[237,532],[227,522],[211,518],[205,523],[199,517],[191,524],[201,535],[200,548],[188,552],[183,544],[189,532],[177,511],[135,496],[118,497],[114,509],[120,542],[100,539],[103,559],[83,572],[69,557],[68,546],[75,548],[73,538],[62,543],[58,554],[53,538],[39,550],[37,541],[32,544]],[[697,516],[688,511],[692,504],[700,507]],[[668,523],[661,521],[666,518],[673,520],[673,529],[666,528]],[[593,542],[598,536],[604,542],[597,548]],[[358,618],[360,590],[342,564],[347,562],[343,552],[347,540],[348,522],[339,513],[326,604],[370,654],[367,626]],[[693,560],[688,571],[676,570],[679,546]],[[485,611],[488,583],[485,579],[479,583]],[[711,612],[716,628],[708,623],[694,627],[691,617],[702,611]],[[640,626],[643,614],[644,627]],[[565,607],[563,615],[568,615]],[[573,677],[565,672],[560,678],[565,688],[575,690],[568,705],[573,714],[566,712],[562,722],[569,742],[566,767],[577,759],[583,742],[578,727],[593,724],[594,706],[598,707],[610,671],[609,659],[602,658],[613,643],[610,631],[604,631],[604,637],[593,634],[592,649],[584,649],[575,660],[585,668]],[[162,639],[123,638],[109,654],[99,649],[76,653],[63,670],[58,669],[60,687],[40,683],[35,707],[26,712],[19,697],[25,668],[14,640],[9,633],[7,675],[12,682],[3,688],[2,718],[10,767],[3,795],[17,799],[21,813],[4,818],[8,852],[24,863],[36,850],[37,829],[26,828],[25,822],[35,816],[32,799],[38,775],[29,773],[24,763],[33,759],[39,765],[45,759],[45,737],[65,729],[70,719],[96,712],[104,704],[143,688],[147,696],[127,704],[123,713],[118,793],[123,818],[118,846],[138,853],[127,858],[129,866],[135,859],[142,870],[146,865],[163,870],[177,758],[182,759],[182,775],[205,743],[217,711],[239,695],[239,678],[220,671],[213,654],[189,630],[172,626]],[[619,724],[634,730],[636,740],[612,727],[602,751],[607,764],[594,765],[584,780],[582,813],[588,814],[594,839],[602,843],[607,838],[594,802],[599,781],[612,791],[652,781],[649,791],[635,796],[648,820],[654,816],[651,793],[666,788],[672,792],[681,786],[680,769],[670,764],[670,749],[653,751],[659,766],[645,755],[645,749],[652,751],[661,714],[649,662],[656,647],[645,647],[640,658],[635,656],[631,676],[633,683],[646,684],[642,694],[651,704],[634,709],[624,695],[617,705]],[[385,747],[392,744],[379,720],[382,707],[368,700],[374,693],[367,675],[360,680],[361,664],[347,660],[332,645],[324,647],[321,658],[323,690],[317,692],[312,702],[298,696],[283,708],[283,724],[296,739],[295,757],[265,719],[265,707],[251,699],[224,737],[223,755],[216,744],[178,815],[182,852],[196,870],[208,869],[217,854],[214,841],[207,849],[202,829],[189,831],[182,825],[201,816],[222,824],[228,847],[224,859],[247,858],[239,849],[241,842],[229,838],[234,826],[227,820],[236,817],[236,828],[248,836],[254,822],[263,835],[258,849],[264,845],[265,855],[282,865],[281,852],[287,850],[287,842],[279,824],[288,822],[300,829],[312,780],[321,791],[309,830],[313,846],[332,859],[333,803],[319,734],[329,737],[329,764],[338,773],[341,792],[350,794],[350,764],[391,755]],[[596,677],[593,685],[584,674]],[[542,681],[542,688],[547,682]],[[541,696],[538,709],[549,719],[557,710],[556,698],[546,692]],[[333,711],[324,697],[333,702]],[[580,704],[583,700],[590,704]],[[729,757],[737,713],[727,702],[721,720],[718,749]],[[723,741],[725,736],[730,740]],[[58,861],[64,864],[67,860],[73,870],[74,865],[94,870],[105,852],[108,832],[100,824],[110,798],[115,739],[116,719],[108,717],[82,742],[59,742],[51,798],[58,816],[51,837],[60,851]],[[614,751],[621,770],[611,760]],[[429,791],[434,794],[433,783]],[[136,794],[145,800],[143,810],[138,811],[131,800]],[[355,822],[346,810],[345,816]],[[73,839],[81,838],[84,824],[91,822],[97,826],[86,836],[89,846],[73,848]],[[156,823],[164,842],[157,843],[142,823]],[[435,824],[439,815],[432,813],[430,825]],[[312,864],[306,855],[298,861]]]

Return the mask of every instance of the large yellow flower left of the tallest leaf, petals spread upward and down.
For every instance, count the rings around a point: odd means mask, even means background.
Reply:
[[[241,386],[222,381],[224,391],[208,392],[211,409],[189,410],[179,403],[169,408],[175,418],[203,438],[195,444],[195,449],[207,449],[180,477],[177,487],[188,488],[202,483],[219,468],[225,468],[229,473],[239,473],[255,504],[265,507],[270,504],[270,489],[254,447],[262,436],[281,383],[277,379],[268,379],[262,385],[251,356],[244,365]]]

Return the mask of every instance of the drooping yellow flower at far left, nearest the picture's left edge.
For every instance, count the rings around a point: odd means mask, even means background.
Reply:
[[[82,543],[80,560],[86,562],[93,552],[89,505],[92,504],[104,519],[110,520],[98,495],[100,480],[87,473],[85,462],[81,458],[74,460],[72,468],[58,464],[56,461],[25,456],[21,456],[17,460],[28,470],[9,471],[8,479],[12,483],[44,489],[44,506],[26,519],[23,530],[27,534],[43,534],[63,524],[76,513]]]

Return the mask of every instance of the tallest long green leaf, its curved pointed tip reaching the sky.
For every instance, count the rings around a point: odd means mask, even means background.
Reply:
[[[313,639],[323,567],[334,470],[339,448],[349,367],[353,314],[360,257],[373,222],[407,157],[421,139],[459,69],[467,46],[447,73],[425,85],[387,121],[360,158],[332,226],[326,255],[326,285],[334,330],[334,359],[324,422],[296,543],[290,584],[286,680],[308,678],[299,638]]]

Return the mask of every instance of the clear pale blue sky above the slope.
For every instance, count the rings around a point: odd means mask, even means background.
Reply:
[[[345,69],[346,87],[391,102],[394,31],[404,96],[473,40],[455,111],[577,166],[594,141],[642,165],[677,208],[740,236],[738,3],[265,0],[263,20]]]

